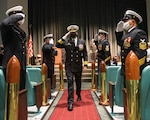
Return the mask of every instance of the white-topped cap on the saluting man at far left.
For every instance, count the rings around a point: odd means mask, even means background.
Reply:
[[[12,7],[12,8],[10,8],[10,9],[8,9],[7,11],[6,11],[6,15],[7,16],[10,16],[10,15],[12,15],[12,14],[16,14],[16,13],[23,13],[23,7],[22,6],[15,6],[15,7]]]

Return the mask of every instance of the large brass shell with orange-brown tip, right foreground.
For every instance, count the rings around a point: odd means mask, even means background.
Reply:
[[[130,51],[125,64],[127,88],[127,120],[141,120],[139,80],[140,67],[136,54]]]

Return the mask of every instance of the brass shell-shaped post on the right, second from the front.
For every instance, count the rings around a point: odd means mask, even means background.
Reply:
[[[100,77],[101,77],[101,98],[100,105],[109,105],[107,101],[107,87],[106,87],[106,64],[104,61],[100,62]]]

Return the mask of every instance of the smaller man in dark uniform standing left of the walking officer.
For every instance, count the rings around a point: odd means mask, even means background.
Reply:
[[[45,63],[48,67],[48,78],[51,79],[52,88],[52,76],[54,74],[55,56],[57,55],[57,48],[54,46],[53,34],[44,36],[44,44],[42,46],[42,63]]]

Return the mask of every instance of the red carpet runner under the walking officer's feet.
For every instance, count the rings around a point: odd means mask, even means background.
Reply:
[[[78,102],[74,92],[73,111],[67,110],[67,97],[68,92],[65,90],[49,120],[100,120],[89,90],[81,91],[82,101]]]

